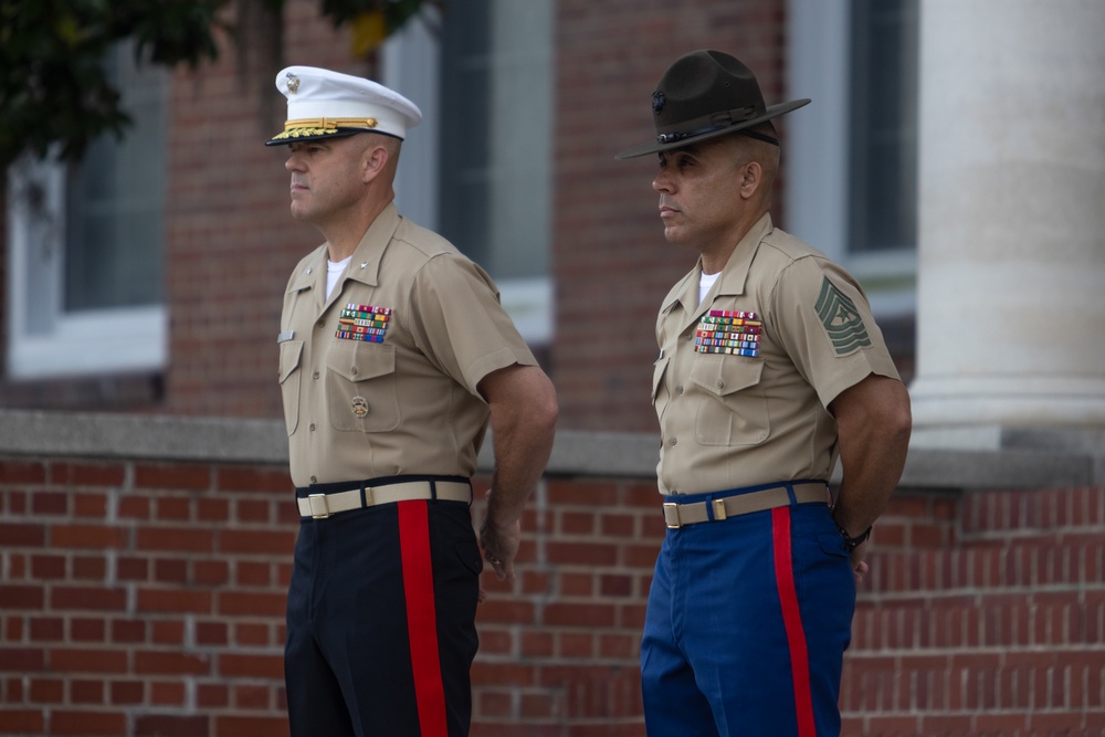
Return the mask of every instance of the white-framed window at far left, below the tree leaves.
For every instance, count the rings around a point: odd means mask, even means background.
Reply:
[[[105,60],[135,122],[76,166],[32,157],[8,177],[8,376],[157,370],[162,296],[167,74],[129,44]]]

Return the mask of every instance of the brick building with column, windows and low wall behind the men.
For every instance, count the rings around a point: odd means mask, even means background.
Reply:
[[[480,614],[473,734],[643,734],[653,328],[694,256],[663,240],[655,165],[613,154],[701,48],[768,103],[813,99],[783,118],[776,223],[860,277],[914,400],[845,734],[1105,735],[1105,6],[431,4],[366,60],[317,0],[232,3],[215,63],[109,60],[122,147],[8,172],[0,735],[283,734],[275,338],[319,242],[263,146],[293,63],[422,107],[399,208],[487,267],[557,386],[518,586]]]

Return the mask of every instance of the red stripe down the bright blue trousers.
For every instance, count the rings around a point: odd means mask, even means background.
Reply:
[[[802,630],[802,612],[798,609],[794,590],[794,566],[790,556],[790,507],[771,509],[771,531],[775,544],[775,581],[779,587],[782,624],[790,644],[790,673],[794,680],[794,709],[799,737],[815,737],[813,697],[810,694],[810,664]]]

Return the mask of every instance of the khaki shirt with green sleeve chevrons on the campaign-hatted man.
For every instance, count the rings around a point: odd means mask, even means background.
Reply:
[[[832,400],[898,378],[859,283],[765,214],[698,304],[701,264],[656,322],[662,494],[814,478],[835,464]]]

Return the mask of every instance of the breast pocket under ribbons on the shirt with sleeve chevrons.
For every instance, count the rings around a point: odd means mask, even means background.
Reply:
[[[770,434],[764,361],[740,356],[695,356],[691,381],[699,390],[695,440],[703,445],[757,445]]]

